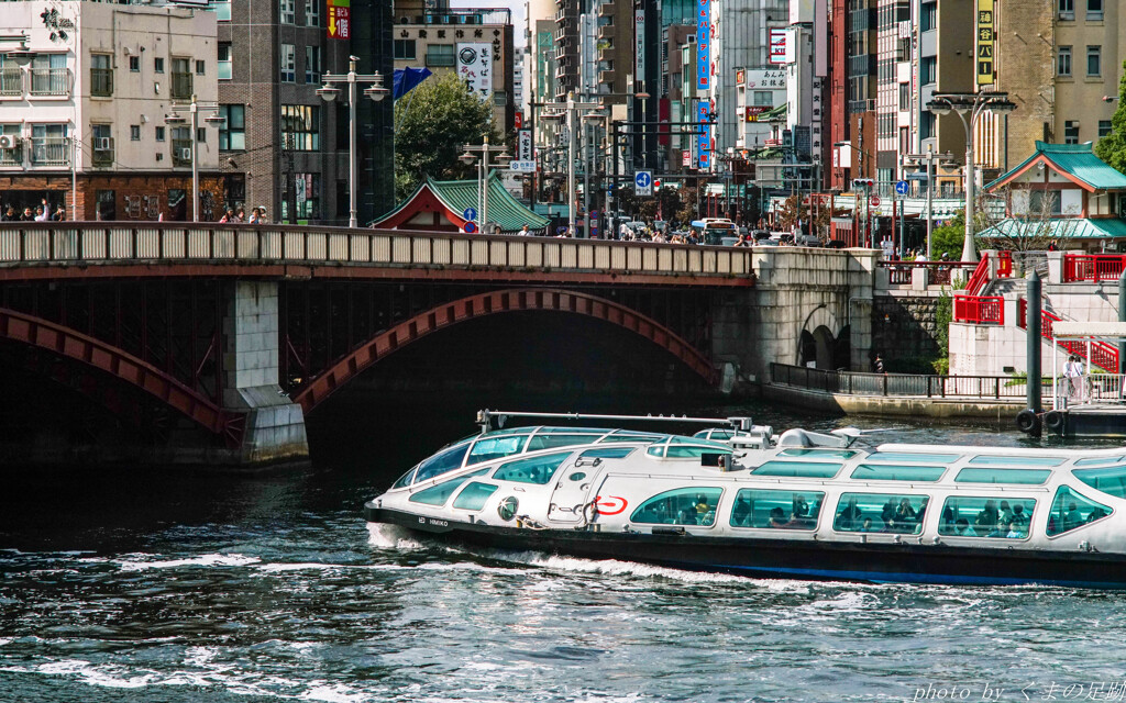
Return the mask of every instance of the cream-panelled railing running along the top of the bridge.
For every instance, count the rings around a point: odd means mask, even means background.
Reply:
[[[0,224],[0,265],[217,260],[747,277],[752,255],[732,246],[343,227]]]

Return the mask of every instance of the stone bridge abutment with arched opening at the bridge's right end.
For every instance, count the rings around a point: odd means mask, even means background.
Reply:
[[[756,285],[717,295],[713,360],[732,384],[767,382],[770,362],[870,368],[877,252],[757,247]]]

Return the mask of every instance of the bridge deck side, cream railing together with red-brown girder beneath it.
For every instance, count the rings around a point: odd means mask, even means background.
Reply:
[[[116,276],[411,278],[747,287],[750,249],[184,223],[3,223],[0,280]]]

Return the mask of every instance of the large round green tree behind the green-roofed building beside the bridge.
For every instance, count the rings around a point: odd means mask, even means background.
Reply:
[[[422,81],[395,102],[395,197],[410,196],[427,177],[476,178],[476,165],[458,156],[485,135],[500,142],[492,102],[477,99],[455,73]]]

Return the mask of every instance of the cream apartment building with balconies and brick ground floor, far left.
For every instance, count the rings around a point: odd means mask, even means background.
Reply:
[[[195,155],[202,216],[221,207],[222,136],[206,119],[216,110],[198,112],[195,133],[184,119],[193,97],[216,105],[213,12],[5,2],[0,34],[0,204],[46,199],[79,219],[187,219]],[[173,114],[181,119],[166,119]]]

